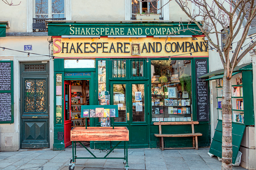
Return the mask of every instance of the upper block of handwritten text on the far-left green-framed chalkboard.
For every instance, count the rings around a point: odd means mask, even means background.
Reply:
[[[11,90],[10,62],[0,62],[0,90]]]

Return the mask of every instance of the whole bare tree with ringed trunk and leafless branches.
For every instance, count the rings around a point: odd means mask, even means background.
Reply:
[[[255,0],[213,0],[209,3],[206,0],[175,0],[180,8],[199,27],[199,31],[203,33],[209,40],[209,43],[219,52],[221,62],[224,67],[223,76],[223,105],[222,105],[222,170],[232,170],[232,84],[231,77],[234,67],[241,59],[256,46],[256,42],[251,41],[245,44],[247,33],[256,17]],[[195,13],[188,6],[188,2],[194,4],[199,12]],[[197,22],[196,17],[203,18],[204,26]],[[245,24],[243,24],[243,22]],[[242,30],[241,30],[242,29]],[[183,31],[191,30],[183,28]],[[222,30],[222,31],[221,31]],[[191,30],[197,31],[197,30]],[[242,31],[242,34],[239,33]],[[210,34],[216,37],[216,42],[210,38]],[[221,36],[222,35],[222,36]],[[222,43],[219,40],[222,38]],[[238,39],[233,54],[232,43]],[[210,45],[209,44],[209,45]],[[239,54],[242,47],[246,47]],[[223,52],[221,52],[223,50]],[[231,56],[232,55],[232,56]],[[231,59],[230,59],[231,58]]]

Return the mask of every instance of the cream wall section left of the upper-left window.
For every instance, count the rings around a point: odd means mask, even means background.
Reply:
[[[19,4],[21,0],[13,0],[13,4]],[[10,1],[9,1],[10,2]],[[9,6],[0,1],[0,21],[10,21],[10,28],[6,32],[26,32],[27,30],[27,2],[21,1],[18,6]]]

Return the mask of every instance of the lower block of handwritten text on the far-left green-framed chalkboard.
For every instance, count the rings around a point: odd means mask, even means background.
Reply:
[[[0,93],[0,121],[12,120],[12,95],[11,93]]]

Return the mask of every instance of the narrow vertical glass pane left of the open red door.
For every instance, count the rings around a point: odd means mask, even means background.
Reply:
[[[56,74],[56,124],[62,123],[62,74]]]

